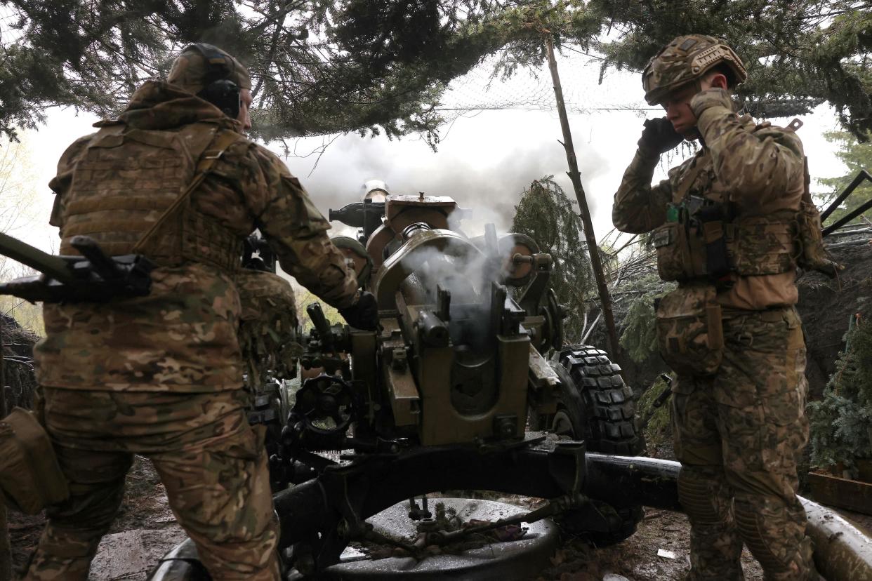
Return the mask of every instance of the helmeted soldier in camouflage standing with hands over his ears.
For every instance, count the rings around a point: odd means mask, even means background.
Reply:
[[[657,305],[676,371],[678,495],[691,521],[693,580],[742,579],[746,544],[766,579],[817,579],[796,460],[807,442],[806,349],[794,307],[804,155],[789,129],[734,112],[746,71],[712,37],[678,37],[643,73],[648,120],[615,195],[623,232],[654,231],[657,267],[678,288]],[[661,153],[700,150],[651,185]]]

